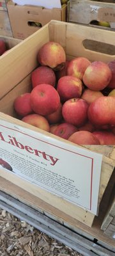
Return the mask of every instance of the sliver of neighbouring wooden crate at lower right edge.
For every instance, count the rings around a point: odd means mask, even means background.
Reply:
[[[104,234],[106,236],[115,239],[115,186],[112,191],[109,207],[105,214],[101,229],[104,230]]]

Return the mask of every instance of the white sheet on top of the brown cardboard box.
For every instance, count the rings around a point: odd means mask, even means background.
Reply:
[[[61,0],[13,0],[13,3],[19,5],[35,5],[35,6],[43,6],[44,8],[52,9],[52,8],[61,8]]]

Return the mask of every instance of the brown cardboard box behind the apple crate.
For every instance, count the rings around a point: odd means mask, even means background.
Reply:
[[[66,21],[66,6],[47,9],[41,6],[7,4],[13,37],[24,39],[43,27],[50,20]]]

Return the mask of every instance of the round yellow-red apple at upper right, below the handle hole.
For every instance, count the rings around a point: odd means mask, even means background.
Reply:
[[[84,72],[84,84],[91,90],[103,90],[111,81],[112,72],[102,61],[93,61]]]

